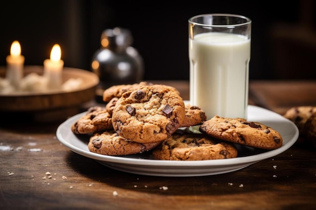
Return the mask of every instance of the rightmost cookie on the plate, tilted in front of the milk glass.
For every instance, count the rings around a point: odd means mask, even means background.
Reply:
[[[278,131],[243,118],[214,116],[203,122],[199,131],[228,142],[265,150],[278,149],[283,144],[282,136]]]

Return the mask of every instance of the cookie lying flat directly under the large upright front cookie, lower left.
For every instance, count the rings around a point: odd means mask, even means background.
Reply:
[[[149,151],[161,142],[141,144],[119,136],[115,130],[94,133],[90,137],[88,148],[90,152],[101,155],[132,155]]]

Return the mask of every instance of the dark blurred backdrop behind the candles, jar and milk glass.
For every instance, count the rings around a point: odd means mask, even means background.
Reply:
[[[250,79],[316,79],[315,4],[286,1],[47,0],[0,3],[0,65],[14,40],[25,65],[42,65],[58,43],[67,67],[91,71],[104,29],[123,27],[144,59],[145,80],[189,80],[188,19],[232,13],[252,20]]]

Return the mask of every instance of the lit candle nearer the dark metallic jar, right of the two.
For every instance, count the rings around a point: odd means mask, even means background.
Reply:
[[[50,90],[62,87],[64,61],[61,60],[61,47],[55,44],[50,52],[50,59],[44,60],[44,77]]]

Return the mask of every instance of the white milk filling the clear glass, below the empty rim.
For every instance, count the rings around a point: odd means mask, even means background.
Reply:
[[[208,32],[189,39],[190,103],[207,119],[247,117],[250,39]]]

